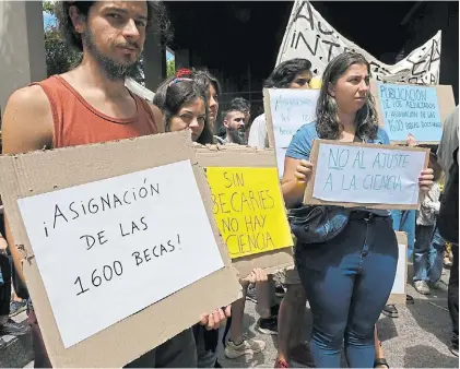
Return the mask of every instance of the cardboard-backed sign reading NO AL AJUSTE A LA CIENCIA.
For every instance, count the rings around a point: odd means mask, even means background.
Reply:
[[[315,140],[314,174],[304,203],[418,209],[418,176],[427,148]]]

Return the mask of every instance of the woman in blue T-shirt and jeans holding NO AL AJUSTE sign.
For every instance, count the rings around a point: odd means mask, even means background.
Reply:
[[[326,68],[317,121],[297,131],[286,153],[282,190],[287,207],[302,204],[312,174],[309,156],[315,139],[389,144],[387,133],[378,127],[369,74],[368,62],[356,52],[341,53]],[[430,188],[432,169],[422,171],[418,184],[423,191]],[[369,368],[375,357],[374,326],[397,271],[398,243],[390,212],[327,207],[334,216],[327,219],[332,221],[331,227],[346,224],[339,227],[339,237],[311,241],[302,233],[296,235],[295,261],[314,317],[311,353],[317,367],[339,368],[345,341],[349,366]],[[308,222],[314,227],[322,219]]]

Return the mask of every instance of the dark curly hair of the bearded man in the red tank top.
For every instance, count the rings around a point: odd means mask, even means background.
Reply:
[[[58,19],[59,31],[61,37],[68,43],[69,46],[79,51],[83,51],[82,35],[75,32],[72,20],[70,19],[70,7],[76,7],[79,13],[87,16],[91,7],[96,1],[57,1],[55,4],[56,17]],[[172,38],[170,23],[167,16],[166,8],[161,1],[146,1],[148,3],[148,28],[155,23],[158,32],[162,33],[164,40]]]

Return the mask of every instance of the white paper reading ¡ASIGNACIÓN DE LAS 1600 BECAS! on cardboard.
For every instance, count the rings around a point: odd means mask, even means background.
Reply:
[[[17,203],[64,347],[224,266],[189,160]]]

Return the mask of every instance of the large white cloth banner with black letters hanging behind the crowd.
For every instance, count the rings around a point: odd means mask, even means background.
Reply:
[[[311,61],[315,75],[339,53],[353,50],[370,63],[377,81],[413,84],[438,84],[440,67],[440,31],[394,66],[382,63],[339,34],[308,1],[296,0],[281,45],[276,66],[293,58]]]

